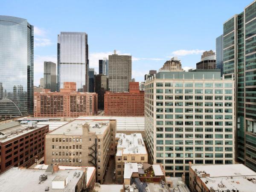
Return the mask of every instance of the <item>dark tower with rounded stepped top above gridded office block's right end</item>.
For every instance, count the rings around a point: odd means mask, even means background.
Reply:
[[[201,55],[201,61],[196,64],[196,69],[216,69],[215,52],[205,51]]]

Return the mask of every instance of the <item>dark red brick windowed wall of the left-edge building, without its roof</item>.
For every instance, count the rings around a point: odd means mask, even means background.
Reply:
[[[38,160],[44,157],[44,135],[48,131],[49,125],[45,125],[27,133],[23,131],[24,134],[19,137],[0,142],[0,173],[12,166],[32,166],[36,157]]]

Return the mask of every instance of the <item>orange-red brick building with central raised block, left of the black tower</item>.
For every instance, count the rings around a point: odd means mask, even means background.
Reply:
[[[75,82],[64,82],[60,92],[34,93],[35,117],[90,116],[97,112],[97,94],[76,92]]]

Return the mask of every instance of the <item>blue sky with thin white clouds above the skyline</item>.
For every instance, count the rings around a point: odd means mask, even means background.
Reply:
[[[183,69],[195,68],[205,50],[215,50],[223,23],[253,0],[1,0],[0,15],[34,26],[34,85],[44,61],[57,64],[60,32],[86,32],[89,67],[116,49],[132,55],[132,78],[144,81],[173,56]]]

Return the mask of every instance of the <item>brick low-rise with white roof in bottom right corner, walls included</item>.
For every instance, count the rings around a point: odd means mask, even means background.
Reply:
[[[256,172],[243,164],[189,166],[191,192],[252,192]]]

